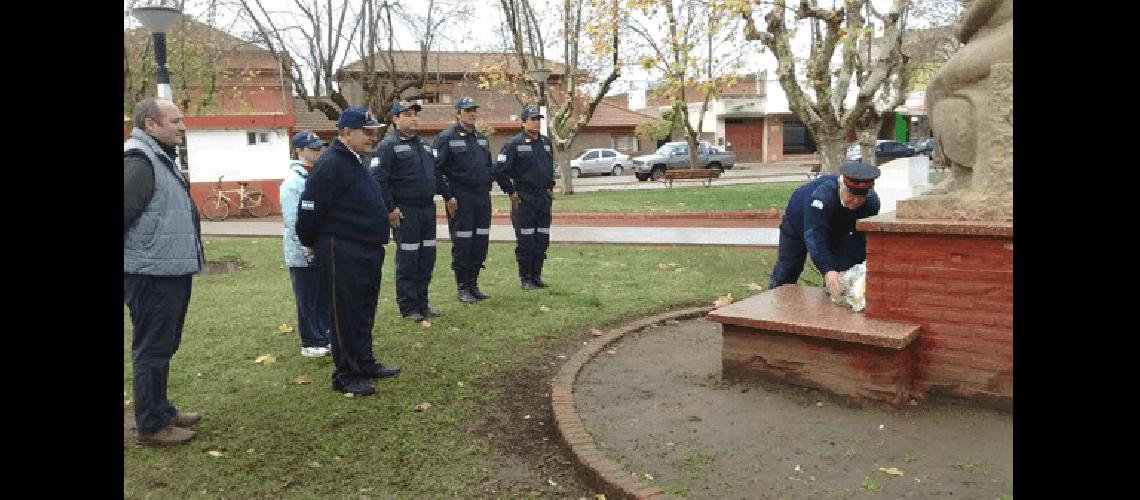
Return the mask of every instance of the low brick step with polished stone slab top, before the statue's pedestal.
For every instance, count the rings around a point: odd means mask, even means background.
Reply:
[[[722,376],[776,379],[898,404],[911,396],[919,326],[866,318],[822,287],[784,285],[716,309]]]

